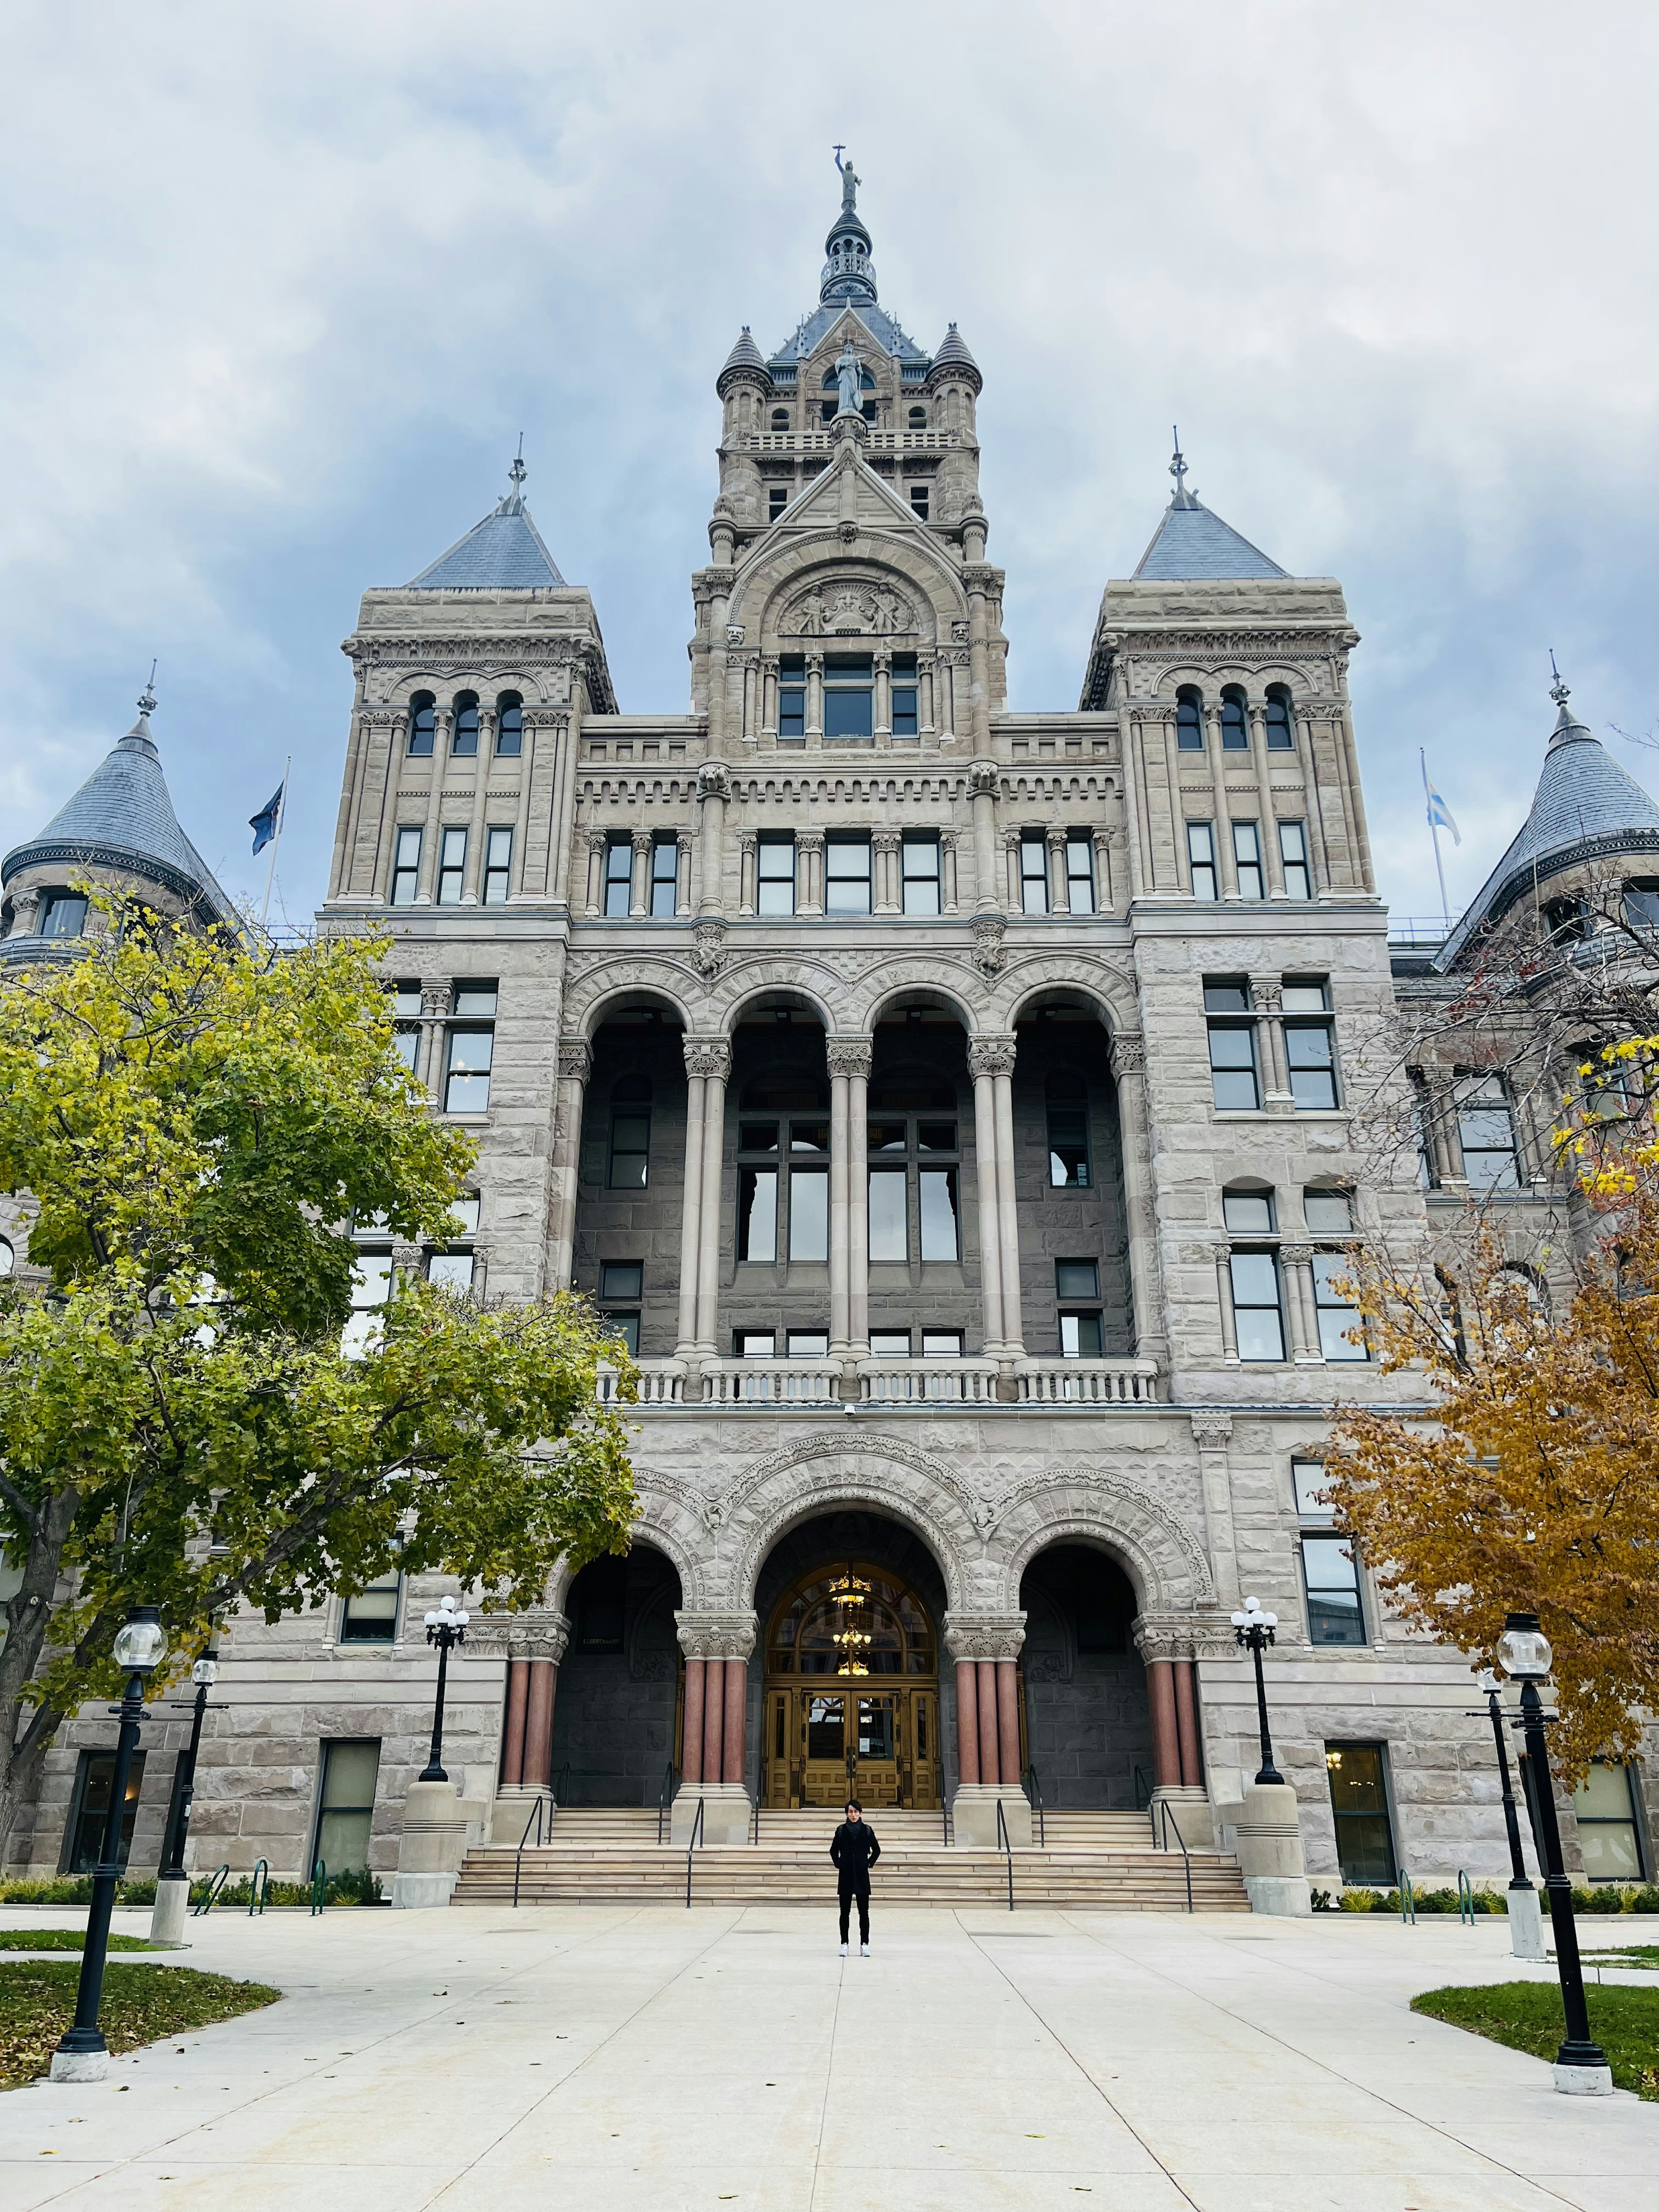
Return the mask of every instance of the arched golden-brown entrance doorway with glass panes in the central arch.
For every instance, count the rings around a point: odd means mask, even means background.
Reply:
[[[894,1568],[827,1559],[783,1590],[761,1712],[765,1805],[940,1803],[938,1635]]]

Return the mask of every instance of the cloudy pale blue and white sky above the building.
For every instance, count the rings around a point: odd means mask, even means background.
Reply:
[[[1336,575],[1398,914],[1517,827],[1553,708],[1659,754],[1657,18],[1644,0],[13,0],[0,135],[0,849],[133,719],[257,894],[323,891],[341,637],[518,434],[624,710],[684,710],[714,374],[814,303],[865,177],[883,301],[982,369],[1015,708],[1192,484]]]

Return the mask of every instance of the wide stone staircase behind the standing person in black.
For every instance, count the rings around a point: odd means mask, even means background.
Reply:
[[[761,1840],[692,1854],[692,1905],[818,1905],[834,1898],[834,1812],[768,1812]],[[940,1814],[872,1812],[885,1907],[1004,1907],[1009,1858],[942,1843]],[[1188,1847],[1190,1849],[1190,1847]],[[1250,1911],[1237,1860],[1190,1849],[1192,1909]],[[467,1854],[456,1905],[684,1905],[686,1851],[657,1843],[655,1809],[566,1809],[553,1840]],[[1155,1851],[1146,1814],[1051,1812],[1046,1845],[1013,1851],[1013,1902],[1055,1911],[1186,1911],[1188,1860]]]

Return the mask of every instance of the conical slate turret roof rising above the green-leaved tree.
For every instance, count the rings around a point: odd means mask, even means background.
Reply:
[[[0,860],[0,885],[22,869],[115,869],[170,891],[204,922],[234,925],[237,914],[212,869],[179,827],[161,754],[150,737],[155,699],[146,690],[139,719],[91,776],[46,823],[40,836],[13,845]],[[20,940],[4,940],[15,958]]]

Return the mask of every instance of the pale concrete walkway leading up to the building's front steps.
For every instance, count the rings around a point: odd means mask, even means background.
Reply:
[[[7,2212],[1659,2205],[1659,2106],[1407,2011],[1509,1980],[1502,1920],[878,1911],[872,1960],[830,1909],[188,1931],[288,2002],[0,2095]]]

